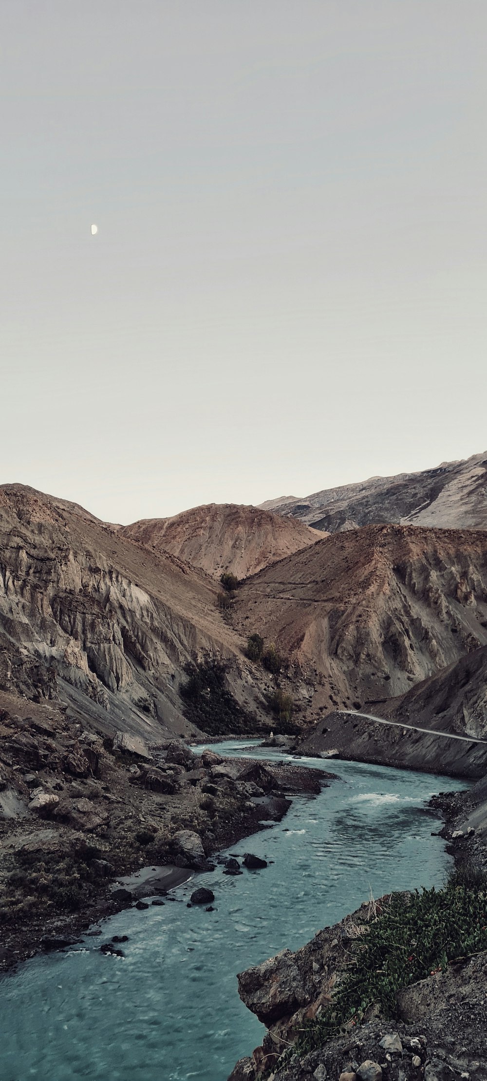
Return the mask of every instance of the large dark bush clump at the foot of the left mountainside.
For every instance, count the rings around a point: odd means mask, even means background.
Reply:
[[[181,688],[184,716],[209,735],[261,733],[262,725],[225,686],[227,666],[220,660],[186,666],[187,683]]]

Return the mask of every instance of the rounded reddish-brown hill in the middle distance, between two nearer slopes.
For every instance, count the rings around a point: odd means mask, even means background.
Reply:
[[[120,533],[155,551],[170,551],[214,577],[228,571],[237,578],[255,574],[323,535],[293,519],[234,503],[210,503],[174,518],[145,519]]]

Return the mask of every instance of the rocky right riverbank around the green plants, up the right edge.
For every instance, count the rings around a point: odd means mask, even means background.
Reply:
[[[237,1063],[229,1081],[455,1081],[487,1078],[487,950],[483,943],[487,922],[485,876],[487,870],[487,780],[463,792],[442,792],[431,805],[445,819],[442,836],[456,860],[456,889],[471,891],[464,911],[484,905],[484,919],[475,917],[476,945],[460,950],[463,956],[442,965],[433,964],[425,978],[412,982],[395,998],[393,1022],[381,1016],[378,1005],[357,1010],[339,1031],[318,1038],[313,1027],[330,1007],[333,996],[363,963],[357,943],[392,904],[391,897],[366,902],[356,912],[332,927],[325,927],[295,952],[282,950],[238,975],[245,1004],[266,1025],[260,1047]],[[466,883],[466,886],[465,884]],[[451,889],[451,888],[450,888]],[[438,896],[438,895],[436,895]],[[450,895],[451,896],[451,895]],[[396,895],[396,908],[406,910],[410,894]],[[400,899],[403,898],[403,899]],[[484,898],[484,899],[483,899]],[[434,900],[434,898],[433,898]],[[443,905],[443,902],[440,903]],[[455,909],[456,911],[456,909]],[[461,924],[464,917],[455,916]],[[394,924],[400,939],[400,919]],[[471,929],[472,931],[472,929]],[[465,940],[473,942],[465,932]],[[421,940],[410,939],[411,962]],[[442,935],[440,924],[436,937]],[[434,937],[434,936],[433,936]],[[446,943],[445,943],[446,946]],[[457,950],[457,955],[458,955]],[[453,957],[455,950],[451,951]],[[385,957],[385,953],[383,955]],[[384,963],[384,962],[382,962]],[[378,972],[382,970],[379,969]],[[403,986],[399,982],[399,986]],[[314,1036],[312,1038],[312,1031]],[[292,1056],[294,1041],[301,1042]],[[307,1041],[307,1044],[306,1044]],[[318,1045],[317,1045],[318,1044]],[[280,1056],[287,1052],[287,1063]]]

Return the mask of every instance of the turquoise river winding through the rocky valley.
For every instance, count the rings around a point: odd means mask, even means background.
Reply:
[[[212,749],[242,755],[251,742]],[[249,757],[282,759],[252,747]],[[290,759],[290,761],[294,761]],[[232,878],[216,867],[174,900],[107,920],[102,937],[26,962],[0,984],[1,1081],[226,1081],[262,1040],[236,973],[295,949],[372,891],[440,884],[449,866],[424,803],[459,780],[354,762],[302,759],[340,777],[300,796],[284,820],[231,851],[269,863]],[[215,911],[187,908],[208,885]],[[126,934],[124,958],[100,944]]]

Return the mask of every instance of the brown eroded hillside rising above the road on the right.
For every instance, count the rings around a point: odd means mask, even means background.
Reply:
[[[395,697],[487,644],[487,534],[334,534],[248,579],[235,618],[320,684],[314,710]]]

